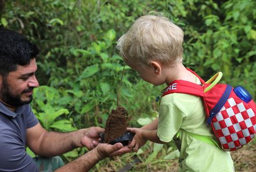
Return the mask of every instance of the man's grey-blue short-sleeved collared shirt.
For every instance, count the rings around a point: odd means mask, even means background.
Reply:
[[[26,153],[26,129],[37,123],[29,104],[12,112],[0,103],[0,171],[38,171]]]

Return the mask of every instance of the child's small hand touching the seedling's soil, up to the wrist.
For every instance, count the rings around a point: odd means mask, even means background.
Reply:
[[[128,148],[133,148],[134,152],[138,152],[138,149],[140,149],[147,142],[147,140],[143,138],[143,132],[145,130],[138,128],[127,128],[127,130],[129,130],[131,133],[135,133],[135,136],[128,145]]]

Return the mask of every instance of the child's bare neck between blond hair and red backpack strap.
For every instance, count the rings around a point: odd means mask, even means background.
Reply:
[[[195,83],[195,76],[184,67],[182,63],[164,69],[166,80],[165,83],[169,85],[174,80],[187,80]]]

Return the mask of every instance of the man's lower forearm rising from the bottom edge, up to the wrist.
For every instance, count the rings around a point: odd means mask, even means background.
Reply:
[[[87,152],[83,156],[80,156],[79,158],[73,160],[70,163],[67,163],[65,166],[62,166],[55,172],[85,172],[89,171],[91,167],[93,167],[99,160],[102,158],[98,156],[98,154],[95,152],[96,149],[91,150],[90,152]]]

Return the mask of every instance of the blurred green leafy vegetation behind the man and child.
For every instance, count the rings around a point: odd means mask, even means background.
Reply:
[[[246,87],[255,100],[255,6],[254,0],[0,0],[0,27],[26,35],[40,49],[41,86],[32,103],[37,118],[48,130],[72,131],[105,127],[116,108],[125,65],[116,41],[151,11],[183,29],[186,67],[205,80],[222,71],[223,83]],[[129,112],[129,126],[140,127],[158,115],[155,97],[163,87],[151,86],[125,67],[120,105]],[[172,142],[148,143],[137,154],[103,160],[92,171],[118,171],[135,157],[141,163],[130,167],[133,171],[163,170],[177,157],[174,150]],[[75,149],[63,158],[69,161],[86,151]]]

